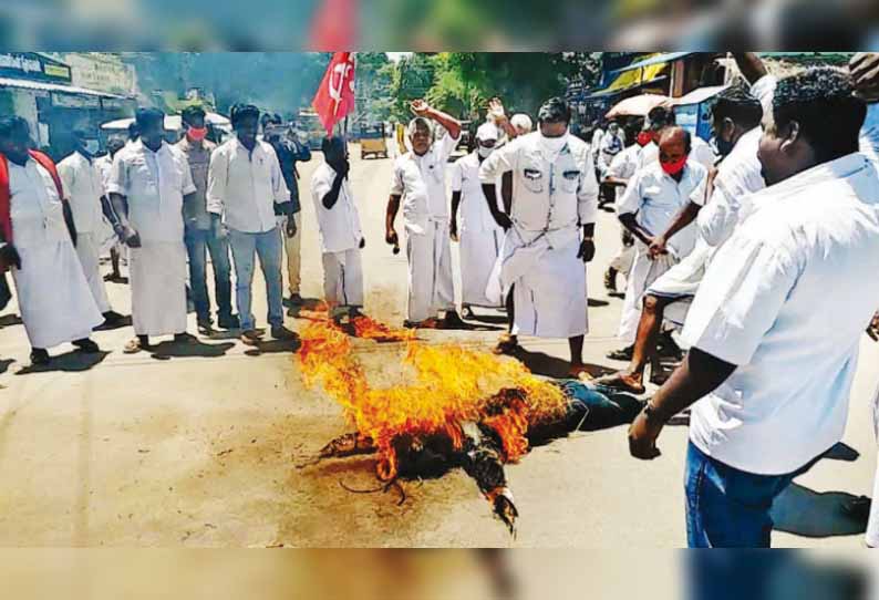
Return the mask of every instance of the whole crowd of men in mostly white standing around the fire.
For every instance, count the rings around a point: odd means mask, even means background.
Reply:
[[[611,123],[586,142],[570,134],[561,99],[542,104],[537,131],[494,100],[474,149],[447,169],[462,124],[415,101],[385,217],[396,251],[402,208],[407,327],[462,324],[451,251],[458,242],[464,317],[478,307],[506,311],[497,353],[515,354],[520,334],[568,339],[570,375],[579,376],[586,263],[600,192],[610,196],[624,241],[606,285],[627,278],[624,346],[611,358],[630,364],[599,383],[644,393],[649,361],[663,339],[672,343],[663,332],[681,330],[689,352],[629,439],[633,456],[654,458],[664,424],[692,406],[694,547],[768,546],[773,500],[842,436],[859,341],[879,308],[879,56],[783,79],[754,54],[735,58],[744,81],[713,105],[714,147],[664,106],[629,123],[628,135]],[[32,362],[65,342],[96,352],[92,330],[121,319],[99,270],[103,218],[128,260],[135,335],[125,352],[155,337],[193,339],[187,282],[199,332],[211,331],[207,254],[218,327],[260,342],[251,311],[258,257],[270,333],[294,338],[283,324],[282,265],[286,248],[290,299],[300,302],[296,162],[310,155],[255,106],[230,116],[235,135],[215,146],[204,111],[188,108],[186,134],[170,145],[163,113],[141,110],[136,141],[112,145],[103,159],[83,141],[58,168],[30,149],[23,120],[0,120],[0,266],[12,269]],[[309,190],[324,297],[334,317],[355,314],[365,240],[348,147],[331,136],[322,151]],[[879,509],[871,531],[879,542]]]

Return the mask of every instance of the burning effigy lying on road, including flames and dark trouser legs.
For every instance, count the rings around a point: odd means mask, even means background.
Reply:
[[[608,397],[581,382],[542,380],[516,360],[428,344],[414,330],[393,330],[363,315],[347,328],[316,319],[300,333],[306,384],[321,386],[339,403],[353,430],[327,444],[316,461],[375,455],[376,477],[389,486],[462,468],[511,534],[518,509],[505,464],[569,432],[631,421],[641,407],[625,394]],[[405,343],[402,361],[411,381],[371,385],[352,337]]]

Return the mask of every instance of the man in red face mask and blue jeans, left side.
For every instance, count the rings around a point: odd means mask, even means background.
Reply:
[[[214,292],[217,299],[217,324],[221,329],[238,329],[238,317],[232,314],[231,265],[229,242],[213,235],[210,215],[207,211],[207,172],[210,154],[216,144],[206,139],[207,125],[205,110],[187,106],[183,111],[186,135],[177,147],[189,161],[193,183],[197,192],[190,201],[184,204],[183,216],[186,225],[186,252],[189,255],[189,286],[193,303],[198,319],[198,331],[209,334],[213,331],[210,319],[210,298],[207,293],[207,252],[214,266]]]

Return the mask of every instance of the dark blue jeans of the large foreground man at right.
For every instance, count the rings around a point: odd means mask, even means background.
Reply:
[[[775,498],[798,474],[745,473],[686,449],[686,542],[690,548],[768,548]]]

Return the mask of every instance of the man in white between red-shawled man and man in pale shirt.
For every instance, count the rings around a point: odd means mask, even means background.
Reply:
[[[58,164],[58,174],[64,185],[73,223],[76,225],[76,256],[80,257],[82,271],[89,288],[92,290],[97,309],[104,315],[105,324],[114,327],[121,323],[122,314],[113,311],[101,276],[101,239],[104,224],[104,209],[101,198],[104,184],[95,166],[92,152],[96,148],[86,147],[87,135],[83,131],[74,131],[73,153]]]

